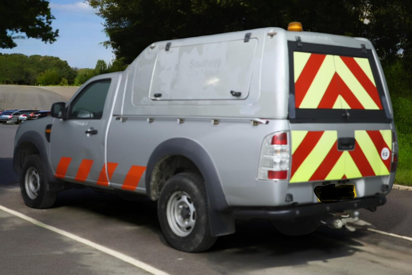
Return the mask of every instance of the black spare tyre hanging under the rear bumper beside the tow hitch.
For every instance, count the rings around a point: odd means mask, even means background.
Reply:
[[[283,235],[303,236],[316,231],[319,220],[317,217],[305,217],[295,220],[270,220],[270,222]]]

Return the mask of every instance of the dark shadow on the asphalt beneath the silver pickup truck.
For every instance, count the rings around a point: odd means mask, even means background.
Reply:
[[[159,240],[168,246],[157,220],[157,204],[148,198],[128,202],[115,194],[97,193],[87,187],[59,192],[54,208],[66,206],[143,226],[157,234]],[[236,274],[236,270],[244,273],[260,268],[295,266],[309,261],[328,262],[332,258],[351,256],[362,251],[359,248],[363,244],[352,239],[362,234],[365,233],[320,228],[307,236],[288,237],[274,229],[269,220],[253,219],[236,221],[236,233],[219,237],[215,245],[204,253],[190,256],[177,253],[193,259],[206,258],[217,273],[227,274],[230,267],[230,273]]]

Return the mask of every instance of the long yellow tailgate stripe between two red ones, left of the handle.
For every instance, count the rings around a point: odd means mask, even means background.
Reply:
[[[308,181],[319,165],[321,165],[336,140],[337,131],[325,131],[307,158],[302,162],[299,168],[297,168],[295,174],[290,179],[290,182],[299,183]]]

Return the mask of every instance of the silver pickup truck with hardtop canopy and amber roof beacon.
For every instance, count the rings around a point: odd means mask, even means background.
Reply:
[[[158,42],[22,123],[30,207],[86,185],[157,201],[172,247],[199,252],[268,218],[282,233],[347,228],[386,202],[393,110],[369,40],[262,28]]]

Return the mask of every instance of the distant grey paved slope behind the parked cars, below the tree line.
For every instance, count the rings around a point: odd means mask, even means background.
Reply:
[[[49,110],[54,102],[66,102],[75,93],[76,87],[36,87],[23,85],[0,85],[0,110],[37,109]]]

